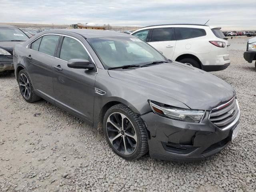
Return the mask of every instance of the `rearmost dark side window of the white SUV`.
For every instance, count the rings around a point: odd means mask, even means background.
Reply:
[[[183,40],[205,36],[206,32],[204,29],[177,27],[175,28],[175,35],[176,40]]]

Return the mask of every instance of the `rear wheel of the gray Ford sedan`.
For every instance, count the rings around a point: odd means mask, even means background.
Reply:
[[[32,103],[41,99],[34,92],[34,88],[32,86],[31,80],[24,69],[20,70],[18,74],[18,83],[19,83],[20,93],[22,94],[22,97],[27,102]]]

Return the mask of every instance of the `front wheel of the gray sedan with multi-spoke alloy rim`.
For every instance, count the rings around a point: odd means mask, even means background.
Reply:
[[[109,108],[103,129],[108,144],[122,158],[137,159],[148,152],[146,126],[128,106],[117,104]]]

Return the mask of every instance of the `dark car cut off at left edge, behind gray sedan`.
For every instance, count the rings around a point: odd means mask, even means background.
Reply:
[[[28,40],[19,28],[0,25],[0,72],[14,70],[12,50],[16,44]]]

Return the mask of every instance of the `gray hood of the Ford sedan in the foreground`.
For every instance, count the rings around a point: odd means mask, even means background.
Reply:
[[[150,95],[168,96],[192,109],[212,110],[235,96],[234,89],[222,79],[179,62],[134,70],[108,70],[108,73],[148,93],[149,100]]]

